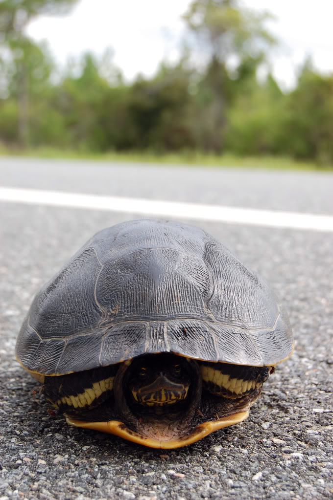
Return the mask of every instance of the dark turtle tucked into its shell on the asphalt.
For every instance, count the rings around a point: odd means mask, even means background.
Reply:
[[[37,293],[16,344],[69,425],[164,449],[247,418],[292,351],[266,281],[205,230],[161,219],[92,236]]]

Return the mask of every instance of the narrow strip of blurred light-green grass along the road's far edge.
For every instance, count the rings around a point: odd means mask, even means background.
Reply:
[[[150,151],[105,152],[75,151],[40,147],[33,149],[9,149],[0,146],[0,155],[26,156],[52,159],[91,159],[100,161],[130,161],[171,165],[193,165],[210,167],[267,168],[288,170],[333,170],[333,165],[319,165],[310,161],[296,161],[283,156],[234,156],[231,154],[209,154],[195,151],[161,153]]]

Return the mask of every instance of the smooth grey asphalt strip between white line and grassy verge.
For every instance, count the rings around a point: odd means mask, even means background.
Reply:
[[[333,214],[326,172],[1,158],[0,185]]]

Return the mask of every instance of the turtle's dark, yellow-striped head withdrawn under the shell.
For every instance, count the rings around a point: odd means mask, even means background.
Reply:
[[[136,360],[127,386],[134,402],[159,408],[184,401],[190,383],[187,359],[163,354],[142,356]]]

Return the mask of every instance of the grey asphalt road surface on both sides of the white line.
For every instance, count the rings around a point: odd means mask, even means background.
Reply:
[[[0,185],[333,213],[328,173],[80,165],[0,158]],[[296,347],[247,420],[161,451],[50,415],[14,358],[40,286],[94,232],[133,217],[23,203],[0,209],[0,500],[333,497],[333,233],[197,223],[271,283]]]

